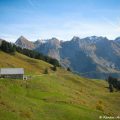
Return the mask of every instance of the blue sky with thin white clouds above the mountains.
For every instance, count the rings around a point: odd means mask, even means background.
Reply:
[[[120,36],[120,0],[0,0],[0,38]]]

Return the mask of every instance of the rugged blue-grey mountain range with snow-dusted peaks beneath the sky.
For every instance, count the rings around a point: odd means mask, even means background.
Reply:
[[[15,44],[56,58],[64,68],[85,77],[120,76],[120,37],[109,40],[102,36],[74,36],[69,41],[51,38],[32,42],[21,36]]]

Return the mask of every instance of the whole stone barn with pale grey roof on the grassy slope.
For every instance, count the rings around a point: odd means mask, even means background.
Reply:
[[[0,78],[24,79],[24,68],[0,68]]]

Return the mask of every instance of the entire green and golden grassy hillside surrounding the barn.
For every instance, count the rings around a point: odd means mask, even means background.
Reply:
[[[24,67],[32,79],[0,79],[0,120],[98,120],[120,115],[120,93],[105,81],[89,80],[24,55],[0,52],[0,67]],[[40,74],[40,75],[39,75]]]

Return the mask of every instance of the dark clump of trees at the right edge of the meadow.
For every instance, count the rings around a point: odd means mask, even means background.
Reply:
[[[116,90],[120,90],[120,80],[119,79],[109,76],[107,81],[109,83],[110,92],[113,92],[114,88]]]

